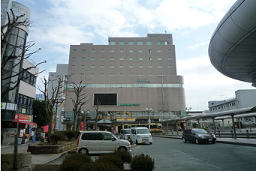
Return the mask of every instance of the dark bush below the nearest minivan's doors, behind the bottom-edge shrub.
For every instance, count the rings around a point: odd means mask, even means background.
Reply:
[[[122,159],[115,154],[104,154],[100,155],[95,160],[96,163],[110,163],[117,166],[119,169],[124,169],[124,162]]]

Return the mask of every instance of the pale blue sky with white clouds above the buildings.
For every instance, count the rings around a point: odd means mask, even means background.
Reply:
[[[48,77],[57,64],[68,64],[70,45],[108,44],[108,37],[173,34],[177,74],[185,80],[187,107],[208,110],[208,101],[235,97],[238,89],[254,89],[220,74],[209,62],[212,33],[236,0],[16,0],[31,10],[29,40],[33,62]],[[33,50],[32,49],[32,50]]]

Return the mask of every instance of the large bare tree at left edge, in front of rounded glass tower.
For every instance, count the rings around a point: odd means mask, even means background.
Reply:
[[[39,52],[41,48],[35,50],[34,52],[26,53],[32,46],[35,45],[35,43],[28,42],[21,43],[19,45],[9,43],[9,35],[11,34],[11,31],[14,31],[15,27],[30,26],[29,19],[22,20],[23,17],[25,17],[25,14],[15,16],[13,10],[11,10],[11,13],[12,17],[10,17],[10,14],[7,12],[8,23],[1,26],[1,101],[4,100],[4,97],[8,92],[16,89],[20,85],[20,81],[23,80],[24,72],[29,71],[32,68],[37,68],[38,65],[41,65],[42,63],[46,63],[46,61],[40,62],[34,67],[23,68],[22,70],[23,60],[25,58],[29,58],[36,52]],[[17,54],[17,49],[23,50]],[[13,71],[12,74],[11,71]],[[40,73],[42,72],[44,71],[41,71]],[[15,77],[17,79],[12,79]]]

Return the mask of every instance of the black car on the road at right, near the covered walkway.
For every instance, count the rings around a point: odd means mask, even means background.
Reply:
[[[188,129],[183,131],[182,140],[183,142],[191,141],[197,144],[204,142],[212,142],[212,144],[214,144],[216,136],[213,133],[207,133],[207,131],[203,129]]]

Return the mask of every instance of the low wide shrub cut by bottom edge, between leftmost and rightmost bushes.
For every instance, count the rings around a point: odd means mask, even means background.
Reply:
[[[89,171],[121,171],[117,166],[112,163],[84,163],[77,170],[89,170]]]

